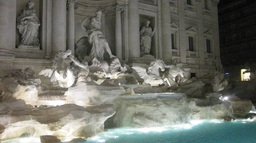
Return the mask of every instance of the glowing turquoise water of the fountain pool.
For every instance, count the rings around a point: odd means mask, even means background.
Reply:
[[[255,133],[255,120],[193,120],[188,124],[165,127],[108,129],[108,132],[88,138],[85,143],[255,143]],[[31,139],[19,138],[2,143],[40,143],[39,138]]]

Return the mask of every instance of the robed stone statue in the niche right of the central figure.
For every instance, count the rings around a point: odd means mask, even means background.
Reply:
[[[152,28],[149,26],[149,24],[150,21],[146,20],[144,26],[140,30],[140,57],[150,53],[151,39],[154,36],[155,27],[152,31]]]

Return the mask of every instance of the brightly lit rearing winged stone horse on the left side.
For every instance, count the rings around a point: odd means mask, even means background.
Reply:
[[[58,80],[58,86],[62,88],[68,88],[72,86],[75,81],[75,76],[73,75],[73,72],[67,67],[64,61],[71,53],[72,51],[70,50],[59,51],[53,59],[52,69],[46,67],[39,73],[39,75],[51,77],[51,82]]]

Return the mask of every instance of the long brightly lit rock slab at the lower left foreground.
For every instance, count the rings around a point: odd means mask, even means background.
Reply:
[[[33,108],[24,100],[0,103],[1,124],[5,126],[1,140],[27,134],[39,137],[45,134],[56,137],[91,137],[103,132],[104,122],[115,114],[113,105],[84,108],[75,104]]]

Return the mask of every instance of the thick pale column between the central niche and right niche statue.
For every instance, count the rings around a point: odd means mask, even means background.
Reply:
[[[129,60],[140,60],[139,0],[129,0],[128,2],[128,27]]]

